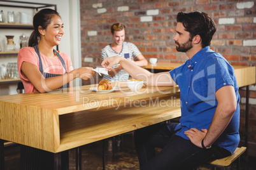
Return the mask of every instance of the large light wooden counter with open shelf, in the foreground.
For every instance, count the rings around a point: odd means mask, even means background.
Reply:
[[[0,96],[0,139],[59,153],[180,116],[178,86],[132,92],[116,82],[112,93],[93,86]]]

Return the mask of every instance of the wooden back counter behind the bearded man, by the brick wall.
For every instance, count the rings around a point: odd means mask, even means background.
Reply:
[[[179,67],[182,63],[156,63],[152,65],[148,63],[145,69],[156,69],[156,70],[173,70],[176,67]],[[248,67],[248,66],[236,66],[234,65],[234,71],[236,74],[236,81],[238,82],[239,88],[243,86],[248,86],[250,84],[255,84],[255,66]]]

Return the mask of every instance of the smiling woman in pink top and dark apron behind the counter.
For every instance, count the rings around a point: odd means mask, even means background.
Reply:
[[[71,81],[80,77],[89,79],[95,73],[91,67],[73,69],[71,58],[56,51],[64,35],[62,19],[52,9],[43,9],[33,18],[34,31],[29,38],[29,47],[18,53],[18,72],[25,93],[45,93],[54,89],[71,87]],[[31,156],[33,155],[33,156]],[[48,160],[48,164],[43,161]],[[22,146],[20,169],[53,169],[53,154]]]

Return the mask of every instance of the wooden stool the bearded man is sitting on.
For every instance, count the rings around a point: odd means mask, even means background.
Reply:
[[[236,164],[236,169],[239,169],[240,156],[245,152],[245,150],[246,150],[246,147],[236,148],[234,154],[230,155],[229,157],[224,157],[222,159],[216,159],[216,160],[213,160],[208,163],[211,164],[211,166],[215,166],[215,169],[216,169],[216,167],[223,167],[225,169],[225,167],[230,166],[232,164],[232,162],[234,162],[236,159],[238,159],[237,164]]]

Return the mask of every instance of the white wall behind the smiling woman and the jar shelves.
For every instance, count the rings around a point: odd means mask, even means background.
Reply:
[[[23,1],[23,0],[16,0]],[[73,62],[74,68],[81,67],[81,43],[80,43],[80,2],[79,0],[25,0],[23,2],[31,3],[46,3],[46,4],[56,4],[57,11],[59,12],[62,22],[64,23],[65,34],[62,37],[61,44],[59,45],[59,50],[67,53]],[[6,8],[0,7],[0,10],[4,10],[4,15],[7,15],[7,11],[14,11],[15,15],[18,16],[18,11],[23,11],[32,15],[33,10],[26,8]],[[14,37],[14,42],[16,48],[19,48],[19,37],[22,34],[30,36],[32,30],[19,30],[19,29],[0,29],[0,44],[2,48],[6,46],[5,35],[11,35]],[[8,62],[17,62],[17,56],[0,56],[0,64]],[[74,82],[75,86],[79,86],[81,81],[78,79]],[[16,92],[17,84],[0,84],[0,95],[13,95]]]

